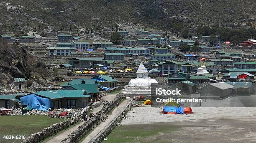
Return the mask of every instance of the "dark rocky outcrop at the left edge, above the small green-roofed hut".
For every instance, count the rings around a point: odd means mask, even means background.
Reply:
[[[0,39],[0,86],[13,83],[14,77],[31,79],[31,76],[37,76],[35,79],[44,79],[51,75],[46,64],[27,53],[20,45],[8,45]]]

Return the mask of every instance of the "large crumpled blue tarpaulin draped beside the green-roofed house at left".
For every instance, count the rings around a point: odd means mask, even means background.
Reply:
[[[51,101],[47,98],[42,98],[36,96],[35,94],[29,94],[23,97],[20,97],[20,102],[23,105],[31,106],[33,109],[48,111],[51,107]]]

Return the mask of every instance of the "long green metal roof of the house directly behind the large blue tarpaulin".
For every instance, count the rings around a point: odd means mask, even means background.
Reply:
[[[84,90],[47,90],[38,91],[34,94],[44,96],[49,99],[61,99],[61,98],[85,98],[90,95],[83,95]]]

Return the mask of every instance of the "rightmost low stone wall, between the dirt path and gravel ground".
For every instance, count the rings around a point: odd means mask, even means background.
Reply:
[[[92,138],[89,143],[101,143],[105,137],[107,137],[113,129],[117,126],[117,123],[123,119],[123,116],[129,111],[132,106],[132,101],[130,101],[125,108],[111,121],[111,123],[105,127],[99,134]]]

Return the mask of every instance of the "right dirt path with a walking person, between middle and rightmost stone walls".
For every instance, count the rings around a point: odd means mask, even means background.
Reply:
[[[93,131],[86,137],[84,138],[84,140],[81,143],[89,143],[92,138],[94,138],[95,136],[97,136],[97,134],[100,133],[100,131],[102,131],[103,128],[105,128],[106,126],[108,126],[108,124],[110,124],[110,122],[115,118],[116,115],[118,115],[118,113],[120,113],[120,111],[123,110],[123,108],[125,108],[125,106],[129,103],[130,100],[126,99],[125,101],[123,101],[120,105],[119,108],[115,108],[110,114],[109,114],[109,118],[107,118],[106,121],[100,123],[100,125],[98,125],[96,128],[93,129]]]

